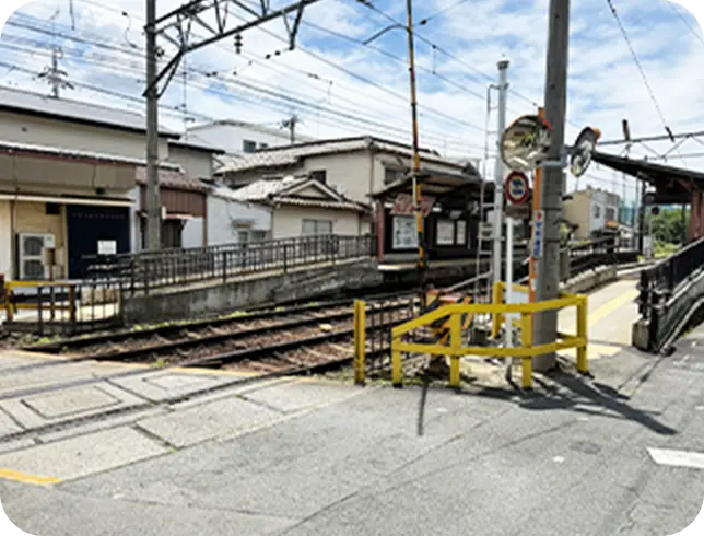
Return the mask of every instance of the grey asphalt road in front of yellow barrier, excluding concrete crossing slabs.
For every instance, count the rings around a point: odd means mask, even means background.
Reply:
[[[704,514],[700,346],[704,330],[670,358],[622,351],[533,396],[431,389],[422,436],[420,388],[349,387],[55,487],[0,480],[0,504],[37,536],[690,534]]]

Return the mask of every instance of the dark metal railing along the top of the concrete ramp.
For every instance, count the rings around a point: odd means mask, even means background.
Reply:
[[[164,249],[85,257],[89,280],[120,281],[128,293],[199,281],[227,282],[238,276],[269,270],[284,272],[318,263],[335,264],[376,253],[372,235],[319,235],[246,244]]]

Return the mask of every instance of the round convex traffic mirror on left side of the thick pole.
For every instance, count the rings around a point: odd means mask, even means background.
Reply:
[[[548,158],[552,127],[537,115],[519,117],[503,132],[501,160],[513,171],[529,173]]]

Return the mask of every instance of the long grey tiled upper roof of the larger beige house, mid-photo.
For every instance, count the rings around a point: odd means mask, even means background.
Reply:
[[[245,171],[262,170],[267,167],[285,167],[295,165],[306,156],[363,151],[367,149],[374,149],[387,154],[398,154],[407,158],[412,156],[411,148],[401,143],[372,137],[343,138],[300,143],[297,145],[284,148],[259,150],[238,159],[228,159],[223,166],[218,168],[216,173],[222,175],[226,173],[242,173]],[[460,164],[442,158],[435,151],[421,150],[421,160],[457,168],[462,167]]]

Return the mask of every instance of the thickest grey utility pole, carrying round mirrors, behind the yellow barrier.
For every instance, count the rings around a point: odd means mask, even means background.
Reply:
[[[567,104],[567,56],[570,46],[570,0],[550,0],[548,60],[545,77],[545,119],[552,126],[548,163],[562,160]],[[539,260],[538,301],[558,298],[560,291],[560,220],[565,176],[562,165],[543,166],[541,206],[544,211],[544,250]],[[536,345],[553,342],[558,335],[558,312],[545,311],[536,315],[533,340]],[[544,372],[554,366],[555,356],[536,356],[533,368]]]

